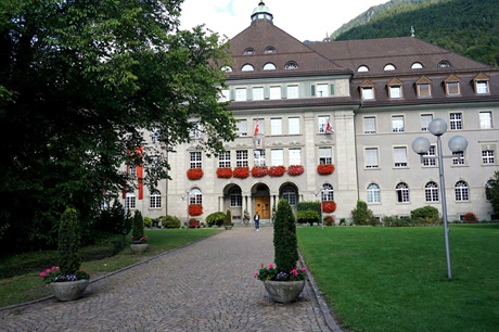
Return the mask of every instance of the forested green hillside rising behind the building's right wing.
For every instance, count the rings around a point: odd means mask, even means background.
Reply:
[[[413,27],[422,40],[499,66],[498,5],[497,0],[393,0],[348,22],[332,39],[404,37]]]

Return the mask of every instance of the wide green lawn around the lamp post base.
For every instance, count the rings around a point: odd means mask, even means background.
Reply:
[[[308,269],[353,331],[497,331],[499,225],[298,228]]]

